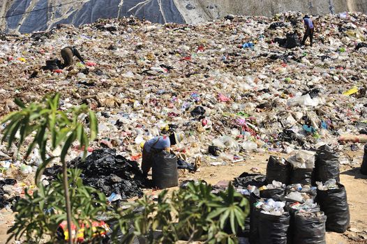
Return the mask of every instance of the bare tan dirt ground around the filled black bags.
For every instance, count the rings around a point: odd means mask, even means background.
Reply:
[[[287,158],[289,155],[270,153]],[[361,158],[362,152],[353,153],[352,156]],[[216,184],[219,181],[231,181],[244,171],[266,173],[269,153],[254,154],[244,162],[233,165],[207,166],[203,165],[195,174],[181,172],[180,181],[186,179],[202,179],[207,183]],[[357,165],[353,165],[357,166]],[[340,167],[340,181],[347,190],[347,199],[350,206],[350,228],[344,234],[327,233],[327,244],[367,243],[367,176],[359,173],[358,167],[342,165]],[[6,231],[13,221],[13,213],[3,209],[0,211],[0,244],[6,243]],[[311,243],[310,243],[311,244]]]

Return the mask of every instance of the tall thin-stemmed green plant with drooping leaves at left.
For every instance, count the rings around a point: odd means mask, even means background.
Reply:
[[[66,155],[73,142],[79,141],[80,147],[84,147],[84,155],[87,151],[89,141],[96,138],[98,125],[96,115],[91,112],[87,105],[72,107],[66,112],[59,109],[59,94],[54,96],[45,96],[41,103],[31,103],[26,106],[19,99],[15,103],[20,107],[20,111],[10,113],[3,119],[6,123],[3,129],[2,142],[7,142],[8,147],[17,142],[20,148],[27,137],[33,136],[31,144],[28,146],[26,158],[33,148],[38,146],[42,164],[36,171],[36,184],[39,186],[40,176],[44,169],[54,158],[59,157],[63,164],[63,189],[65,197],[66,214],[68,220],[68,230],[71,231],[70,199],[68,191],[67,166],[65,162]],[[80,122],[82,115],[89,115],[89,137],[84,130],[84,124]],[[19,132],[20,139],[16,140],[15,135]],[[47,157],[47,146],[54,151],[61,146],[61,155]],[[48,152],[51,153],[51,152]],[[69,238],[69,243],[73,243]]]

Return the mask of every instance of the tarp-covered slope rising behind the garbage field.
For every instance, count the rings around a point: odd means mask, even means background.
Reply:
[[[246,1],[234,0],[2,0],[1,30],[30,33],[57,24],[91,23],[99,18],[134,15],[151,22],[195,24],[225,15],[273,16],[289,10],[312,15],[345,11],[367,13],[367,0]]]

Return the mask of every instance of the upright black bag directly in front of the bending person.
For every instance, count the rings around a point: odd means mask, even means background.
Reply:
[[[176,155],[161,151],[153,155],[153,185],[159,189],[172,188],[179,185]]]

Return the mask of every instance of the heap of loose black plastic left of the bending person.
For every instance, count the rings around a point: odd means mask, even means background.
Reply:
[[[142,197],[142,189],[147,187],[137,162],[127,160],[110,148],[96,149],[85,160],[75,158],[68,167],[82,169],[80,177],[84,185],[100,190],[110,201]],[[53,180],[60,173],[61,166],[54,166],[45,169],[44,174]]]

